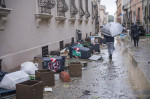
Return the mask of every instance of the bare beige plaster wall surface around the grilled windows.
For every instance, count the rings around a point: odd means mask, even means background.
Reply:
[[[89,2],[89,12],[91,14],[91,1]],[[66,0],[69,6],[69,0]],[[75,0],[77,8],[79,8],[78,0]],[[75,23],[69,21],[70,10],[66,12],[66,20],[64,23],[58,23],[55,20],[57,16],[57,6],[52,9],[52,19],[50,26],[47,26],[47,21],[41,21],[39,28],[36,27],[35,13],[37,13],[36,0],[6,0],[7,8],[11,8],[11,13],[7,16],[8,21],[5,25],[5,30],[0,30],[0,58],[2,61],[2,69],[12,71],[25,61],[32,61],[35,56],[40,56],[41,47],[49,45],[49,51],[59,49],[59,41],[64,40],[64,43],[70,43],[71,38],[75,37],[76,29],[83,33],[85,38],[86,33],[94,34],[94,23],[92,17],[89,17],[88,23],[79,24],[78,20]],[[69,6],[70,9],[70,6]],[[85,10],[85,0],[83,0],[83,9]],[[76,19],[79,14],[76,15]]]

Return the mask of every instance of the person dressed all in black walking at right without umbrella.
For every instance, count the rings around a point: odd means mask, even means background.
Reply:
[[[139,30],[137,29],[137,25],[134,25],[133,27],[133,40],[134,40],[134,46],[138,47],[138,43],[139,43]]]

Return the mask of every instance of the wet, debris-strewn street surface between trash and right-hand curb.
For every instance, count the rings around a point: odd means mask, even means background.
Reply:
[[[103,47],[99,54],[103,61],[88,61],[82,77],[71,78],[69,83],[62,82],[56,74],[53,92],[45,92],[44,99],[138,99],[132,91],[120,40],[115,48],[112,61]]]

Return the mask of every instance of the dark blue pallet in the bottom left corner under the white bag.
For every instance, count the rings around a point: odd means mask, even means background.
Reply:
[[[0,99],[13,99],[16,97],[16,90],[8,90],[0,88]]]

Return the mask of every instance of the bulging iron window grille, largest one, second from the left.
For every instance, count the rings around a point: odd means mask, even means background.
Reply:
[[[55,7],[55,0],[38,0],[38,6],[41,13],[51,13],[51,9]]]

